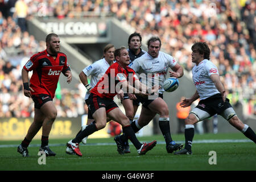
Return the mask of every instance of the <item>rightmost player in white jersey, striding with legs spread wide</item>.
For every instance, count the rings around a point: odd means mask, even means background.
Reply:
[[[185,119],[185,147],[175,152],[175,155],[192,154],[192,140],[195,134],[194,124],[219,114],[232,126],[241,131],[247,138],[256,143],[256,135],[248,125],[242,123],[236,112],[230,105],[224,86],[220,81],[217,67],[209,61],[210,49],[205,42],[197,42],[192,46],[192,62],[196,65],[192,68],[193,82],[196,92],[191,98],[185,98],[181,102],[182,107],[188,107],[193,101],[200,98],[199,104],[189,113]]]

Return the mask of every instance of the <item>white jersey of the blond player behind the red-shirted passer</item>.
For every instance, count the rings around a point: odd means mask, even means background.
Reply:
[[[88,67],[85,67],[82,70],[82,72],[84,72],[87,77],[91,76],[90,86],[94,88],[94,86],[97,84],[97,82],[100,80],[100,78],[104,75],[104,73],[107,71],[109,67],[110,67],[109,63],[105,60],[105,58],[103,58],[94,62]],[[89,95],[90,95],[90,92],[87,90],[85,94],[85,100],[89,97]]]

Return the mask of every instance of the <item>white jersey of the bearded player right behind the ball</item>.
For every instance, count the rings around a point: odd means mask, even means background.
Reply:
[[[159,51],[158,57],[154,58],[147,52],[135,59],[129,67],[139,74],[140,80],[148,87],[160,85],[159,93],[163,93],[163,82],[166,80],[168,68],[176,65],[174,57]],[[146,79],[147,78],[147,79]]]

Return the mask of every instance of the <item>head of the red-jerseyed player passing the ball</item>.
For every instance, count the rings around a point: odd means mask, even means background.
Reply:
[[[114,56],[117,63],[120,64],[123,68],[130,64],[129,53],[125,46],[115,49]]]

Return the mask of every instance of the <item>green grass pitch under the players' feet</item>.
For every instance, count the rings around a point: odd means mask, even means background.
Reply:
[[[184,135],[172,135],[176,141],[184,144]],[[119,155],[113,138],[88,139],[88,144],[81,145],[82,157],[65,154],[65,143],[69,139],[50,139],[51,150],[56,156],[47,157],[46,164],[39,164],[40,140],[32,140],[28,147],[29,158],[23,158],[17,152],[20,141],[0,141],[1,171],[255,171],[256,146],[253,142],[217,142],[197,143],[199,140],[246,140],[241,133],[232,134],[195,134],[193,155],[168,154],[162,135],[139,137],[141,142],[157,140],[155,148],[146,155],[138,155],[130,142],[131,153]],[[106,143],[106,145],[96,145]],[[3,145],[14,146],[3,147]],[[56,145],[54,145],[56,144]],[[2,147],[1,147],[2,146]],[[217,164],[209,164],[210,151],[216,152]]]

